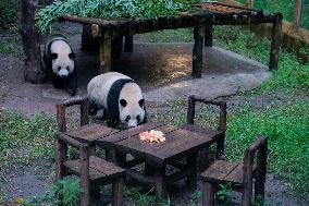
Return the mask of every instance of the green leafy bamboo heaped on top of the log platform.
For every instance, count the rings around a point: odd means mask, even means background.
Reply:
[[[173,15],[190,8],[186,0],[66,0],[55,1],[41,9],[37,25],[41,32],[51,28],[52,22],[63,14],[88,17],[147,17]]]

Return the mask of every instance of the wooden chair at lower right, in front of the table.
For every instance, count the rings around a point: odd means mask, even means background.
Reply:
[[[260,196],[263,199],[267,153],[268,140],[264,136],[260,136],[247,148],[244,163],[232,163],[223,160],[214,161],[201,173],[203,181],[202,206],[214,205],[214,186],[218,184],[231,184],[233,190],[243,193],[240,205],[251,205],[252,179],[255,179],[255,196]]]

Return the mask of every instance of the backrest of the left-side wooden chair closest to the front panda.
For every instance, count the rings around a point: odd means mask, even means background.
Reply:
[[[71,106],[79,105],[81,106],[81,125],[89,123],[88,116],[88,100],[86,97],[77,97],[69,99],[62,104],[57,104],[57,124],[59,132],[66,132],[66,119],[65,119],[65,109]]]

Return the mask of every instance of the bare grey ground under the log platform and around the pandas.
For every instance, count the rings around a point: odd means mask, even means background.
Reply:
[[[78,65],[78,96],[86,95],[86,86],[97,74],[98,54],[82,52],[78,36],[73,37]],[[73,39],[72,39],[73,40]],[[74,43],[72,41],[72,43]],[[271,73],[267,66],[234,52],[212,47],[205,52],[201,78],[191,78],[193,44],[148,44],[135,41],[133,53],[123,53],[114,64],[116,71],[132,76],[141,86],[147,101],[173,101],[195,94],[208,98],[233,95],[251,89]],[[0,106],[32,114],[39,111],[54,113],[54,104],[71,98],[63,89],[25,83],[23,62],[0,57]]]

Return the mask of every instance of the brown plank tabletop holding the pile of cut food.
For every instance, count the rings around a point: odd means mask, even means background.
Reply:
[[[149,130],[162,131],[165,142],[145,143],[140,141],[139,133]],[[113,146],[120,153],[129,153],[135,157],[144,158],[152,166],[161,166],[184,155],[196,153],[200,147],[212,143],[219,134],[221,132],[215,130],[200,133],[163,123],[146,123],[98,138],[96,143],[101,146]]]

